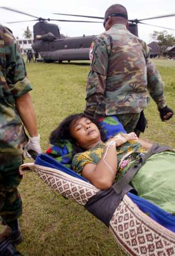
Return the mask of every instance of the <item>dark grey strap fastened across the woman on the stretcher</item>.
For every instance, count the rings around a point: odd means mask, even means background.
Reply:
[[[96,195],[91,197],[85,205],[86,209],[109,226],[115,209],[123,199],[123,196],[129,191],[137,194],[135,189],[129,185],[136,172],[140,170],[141,166],[143,166],[145,160],[148,159],[149,156],[165,150],[170,150],[170,147],[153,144],[148,153],[146,155],[140,154],[139,158],[131,164],[124,176],[118,182],[114,183],[110,189],[99,191]]]

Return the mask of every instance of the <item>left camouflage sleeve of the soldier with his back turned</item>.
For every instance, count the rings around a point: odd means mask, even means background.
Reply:
[[[104,92],[108,67],[109,44],[107,39],[96,38],[93,42],[90,72],[86,84],[85,114],[89,118],[97,119],[105,115]]]

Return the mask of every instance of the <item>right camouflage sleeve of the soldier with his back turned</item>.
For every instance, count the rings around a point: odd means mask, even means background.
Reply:
[[[145,61],[147,65],[147,81],[148,90],[150,96],[157,104],[158,109],[163,109],[166,106],[166,101],[164,97],[164,82],[161,79],[159,71],[154,63],[152,63],[149,57],[149,48],[147,44],[144,45],[145,49]]]

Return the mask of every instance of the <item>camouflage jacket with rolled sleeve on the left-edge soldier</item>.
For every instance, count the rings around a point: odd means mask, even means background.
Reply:
[[[0,24],[0,154],[19,155],[27,141],[15,98],[32,89],[11,32]]]

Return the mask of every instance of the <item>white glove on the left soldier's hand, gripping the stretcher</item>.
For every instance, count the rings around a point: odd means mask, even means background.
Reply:
[[[40,135],[36,137],[29,137],[28,143],[26,144],[26,146],[24,146],[24,158],[26,158],[26,156],[28,156],[28,158],[32,158],[31,155],[27,152],[28,150],[34,150],[38,154],[41,154],[42,151],[40,147]]]

